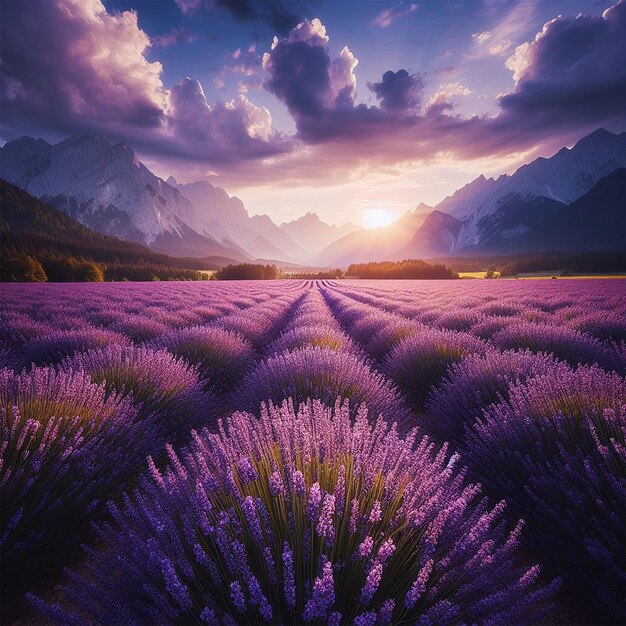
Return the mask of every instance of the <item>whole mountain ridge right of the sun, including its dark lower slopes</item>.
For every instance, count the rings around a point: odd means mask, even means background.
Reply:
[[[619,215],[626,211],[626,199],[623,188],[621,193],[616,190],[615,180],[619,178],[616,172],[624,167],[626,133],[598,129],[571,149],[563,148],[549,159],[536,159],[510,176],[495,180],[479,176],[440,202],[409,237],[403,239],[400,234],[395,246],[390,239],[401,220],[344,237],[326,248],[319,259],[328,257],[327,266],[343,266],[365,260],[366,254],[369,260],[397,261],[540,250],[617,252],[624,248]],[[612,187],[607,177],[613,181]],[[589,197],[595,204],[585,201],[587,214],[583,215],[582,205],[576,202],[582,202],[592,190]],[[576,215],[577,232],[588,230],[593,237],[574,237],[567,228],[570,207],[572,216]],[[607,228],[604,240],[597,220]]]

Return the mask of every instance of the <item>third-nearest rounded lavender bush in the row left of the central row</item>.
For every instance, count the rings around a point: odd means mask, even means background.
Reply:
[[[255,355],[248,340],[212,326],[174,330],[149,345],[154,349],[165,348],[197,366],[200,376],[218,388],[236,382]]]

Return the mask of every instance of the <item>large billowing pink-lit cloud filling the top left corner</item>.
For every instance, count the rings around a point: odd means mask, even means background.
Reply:
[[[92,125],[158,127],[162,66],[137,14],[107,13],[100,0],[3,5],[3,123],[39,119],[58,130]]]

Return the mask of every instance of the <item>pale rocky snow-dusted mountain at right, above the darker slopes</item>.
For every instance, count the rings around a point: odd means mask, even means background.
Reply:
[[[625,165],[626,133],[617,135],[599,128],[573,148],[562,148],[549,159],[536,159],[510,176],[479,176],[436,207],[463,222],[451,251],[480,246],[485,220],[497,212],[506,214],[506,205],[535,198],[569,204]]]

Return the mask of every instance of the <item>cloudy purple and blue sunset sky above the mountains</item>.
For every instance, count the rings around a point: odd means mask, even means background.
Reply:
[[[624,0],[5,0],[0,138],[381,222],[625,126]]]

